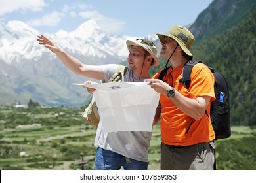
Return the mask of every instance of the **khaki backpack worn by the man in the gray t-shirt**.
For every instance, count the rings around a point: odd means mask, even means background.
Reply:
[[[112,77],[108,80],[108,82],[117,82],[120,79],[123,82],[123,75],[125,75],[127,71],[127,67],[123,65],[119,65],[116,72]],[[100,81],[101,83],[103,81]],[[98,127],[98,123],[100,122],[100,115],[98,114],[98,107],[95,102],[95,98],[92,97],[91,103],[85,108],[85,111],[82,114],[83,119],[94,127]]]

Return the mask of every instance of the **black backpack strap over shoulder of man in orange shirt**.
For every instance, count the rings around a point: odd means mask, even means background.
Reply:
[[[190,75],[194,65],[197,63],[202,63],[202,61],[200,59],[192,59],[188,61],[182,69],[182,78],[179,80],[179,82],[183,82],[186,85],[186,88],[190,87]]]

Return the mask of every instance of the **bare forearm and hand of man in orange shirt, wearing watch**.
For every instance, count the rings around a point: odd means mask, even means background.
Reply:
[[[163,82],[162,80],[154,79],[150,81],[151,82],[149,85],[151,86],[151,88],[163,95],[167,95],[167,90],[171,88],[169,84]],[[211,97],[203,96],[196,99],[190,99],[183,96],[176,90],[175,96],[169,99],[176,105],[177,108],[179,108],[179,110],[194,118],[195,120],[200,120],[207,108],[207,105],[209,104]]]

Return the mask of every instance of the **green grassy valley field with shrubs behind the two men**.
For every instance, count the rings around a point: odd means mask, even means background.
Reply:
[[[96,129],[76,108],[1,108],[0,169],[93,169]],[[215,142],[218,169],[256,169],[256,131],[232,127]],[[153,129],[149,169],[160,169],[160,125]],[[87,161],[82,167],[77,163]]]

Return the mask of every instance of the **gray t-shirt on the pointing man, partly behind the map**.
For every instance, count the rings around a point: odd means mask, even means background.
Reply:
[[[102,65],[105,80],[111,78],[119,65]],[[140,78],[140,82],[146,78]],[[139,82],[130,69],[124,75],[124,81]],[[138,122],[139,123],[139,122]],[[146,131],[115,131],[104,133],[102,123],[98,124],[95,146],[121,154],[137,161],[148,162],[148,148],[150,147],[151,132]]]

